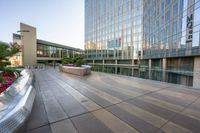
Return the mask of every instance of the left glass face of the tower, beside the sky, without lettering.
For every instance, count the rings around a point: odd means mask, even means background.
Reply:
[[[142,51],[142,0],[86,0],[88,59],[132,59]]]

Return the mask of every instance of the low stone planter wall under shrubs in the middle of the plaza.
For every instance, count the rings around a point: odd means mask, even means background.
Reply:
[[[71,67],[71,66],[62,66],[62,71],[78,76],[84,76],[91,74],[91,68],[82,66],[82,67]]]

